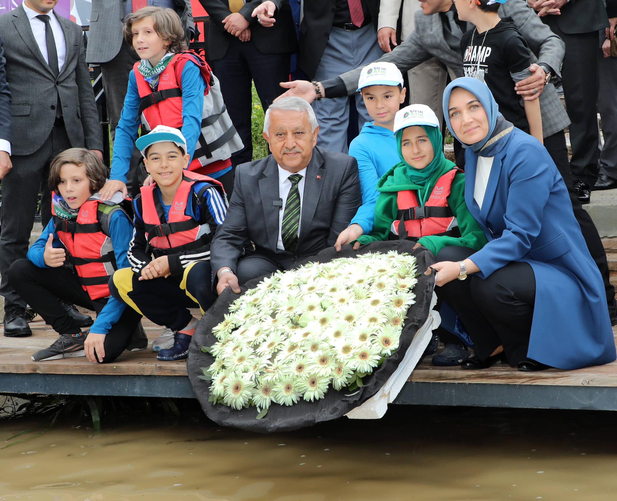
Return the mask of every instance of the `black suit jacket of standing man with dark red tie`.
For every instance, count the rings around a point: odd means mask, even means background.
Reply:
[[[379,0],[362,0],[362,3],[370,12],[376,30],[379,20]],[[309,78],[315,77],[315,70],[328,44],[334,22],[334,12],[334,0],[305,0],[304,2],[304,18],[300,24],[298,66]]]

